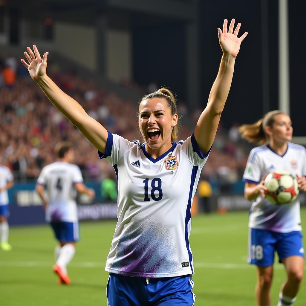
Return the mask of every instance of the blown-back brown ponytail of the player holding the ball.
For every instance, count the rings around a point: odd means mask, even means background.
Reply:
[[[279,114],[284,114],[280,110],[272,110],[264,115],[262,119],[259,119],[254,124],[244,124],[239,128],[241,137],[248,140],[248,142],[254,142],[258,144],[265,144],[269,141],[269,136],[265,132],[265,127],[272,127],[274,123],[274,117]]]

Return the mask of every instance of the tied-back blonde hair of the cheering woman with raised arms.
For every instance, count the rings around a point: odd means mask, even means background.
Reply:
[[[145,95],[141,99],[141,101],[139,102],[138,112],[140,111],[140,104],[141,104],[142,101],[148,100],[148,99],[153,99],[153,98],[166,99],[167,106],[171,110],[171,116],[173,116],[174,114],[177,114],[177,104],[176,104],[175,97],[174,97],[173,93],[168,88],[160,88],[159,90],[154,91],[151,94]],[[172,129],[171,143],[173,143],[174,141],[177,141],[177,138],[178,138],[178,124],[175,125]]]

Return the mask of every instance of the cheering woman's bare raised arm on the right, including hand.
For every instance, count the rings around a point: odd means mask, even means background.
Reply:
[[[233,32],[234,24],[235,19],[232,19],[227,31],[227,19],[225,19],[222,31],[218,28],[219,44],[223,52],[221,63],[208,97],[207,106],[200,115],[194,132],[196,142],[204,154],[211,148],[215,139],[221,113],[232,83],[235,59],[242,40],[248,34],[248,32],[245,32],[238,38],[237,35],[241,24],[238,23]]]

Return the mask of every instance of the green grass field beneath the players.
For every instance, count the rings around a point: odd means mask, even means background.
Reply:
[[[306,209],[301,213],[305,220]],[[0,250],[0,305],[106,305],[108,273],[104,266],[115,224],[80,224],[81,241],[68,266],[70,286],[58,285],[51,271],[55,240],[49,226],[11,227],[9,242],[13,250]],[[192,218],[195,305],[256,305],[255,267],[246,264],[247,239],[247,211]],[[276,263],[274,267],[272,305],[277,304],[279,288],[285,280],[282,265]],[[306,304],[305,289],[303,283],[295,306]]]

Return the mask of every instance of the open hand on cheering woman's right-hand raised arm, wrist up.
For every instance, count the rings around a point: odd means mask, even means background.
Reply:
[[[241,42],[248,35],[248,32],[244,32],[244,34],[238,38],[238,32],[241,27],[241,23],[237,24],[237,27],[234,30],[235,19],[232,19],[230,23],[230,27],[227,31],[227,19],[224,19],[222,31],[218,28],[218,36],[219,36],[219,44],[223,51],[223,54],[231,55],[234,58],[239,53]]]

